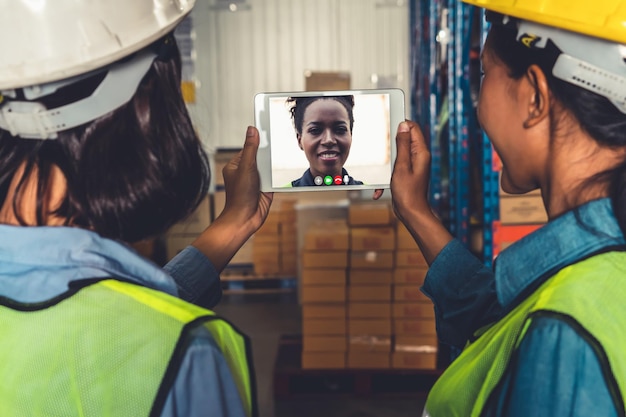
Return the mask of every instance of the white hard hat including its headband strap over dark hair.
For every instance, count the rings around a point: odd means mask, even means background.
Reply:
[[[0,22],[12,35],[0,37],[0,129],[54,139],[128,102],[158,55],[145,47],[172,32],[194,3],[0,0]],[[87,97],[53,109],[40,101],[104,72]]]

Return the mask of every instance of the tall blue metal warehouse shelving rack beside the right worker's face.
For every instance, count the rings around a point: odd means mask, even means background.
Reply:
[[[491,266],[498,177],[491,144],[478,129],[473,93],[479,79],[470,68],[484,42],[484,16],[458,0],[413,0],[411,28],[412,117],[430,143],[431,205],[466,245],[472,227],[480,228],[479,255]]]

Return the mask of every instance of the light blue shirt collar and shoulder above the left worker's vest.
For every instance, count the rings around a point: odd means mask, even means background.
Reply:
[[[41,302],[72,281],[121,278],[177,295],[174,280],[132,248],[74,227],[0,225],[0,295]]]

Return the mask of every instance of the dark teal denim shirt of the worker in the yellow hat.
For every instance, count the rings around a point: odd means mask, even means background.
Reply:
[[[515,242],[485,267],[459,242],[432,263],[422,291],[434,303],[444,343],[462,347],[562,268],[623,250],[609,199],[587,203]],[[584,296],[584,294],[581,294]],[[616,416],[600,362],[581,335],[558,318],[533,321],[487,403],[485,416]]]

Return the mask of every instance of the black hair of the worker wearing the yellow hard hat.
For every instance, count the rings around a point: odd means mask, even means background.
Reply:
[[[544,72],[554,98],[559,101],[580,123],[591,137],[603,146],[623,148],[626,146],[626,114],[622,113],[606,97],[560,80],[552,75],[552,67],[560,53],[558,47],[548,40],[545,48],[528,48],[516,40],[515,21],[498,23],[502,15],[487,12],[492,22],[488,47],[485,53],[493,53],[509,70],[509,76],[519,79],[531,65],[538,65]],[[554,126],[552,126],[554,128]],[[626,160],[617,167],[589,178],[585,185],[603,181],[608,184],[609,196],[620,228],[626,234]]]

